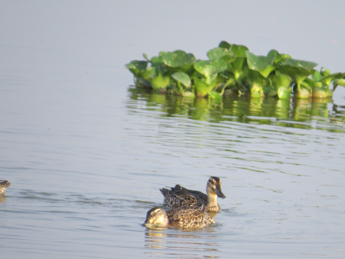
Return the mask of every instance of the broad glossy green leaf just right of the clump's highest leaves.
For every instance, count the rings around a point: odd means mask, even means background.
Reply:
[[[246,55],[248,67],[258,71],[264,77],[267,77],[275,69],[273,56],[256,56],[249,50],[246,51]]]

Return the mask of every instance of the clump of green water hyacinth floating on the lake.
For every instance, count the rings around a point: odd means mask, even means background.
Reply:
[[[256,56],[246,46],[226,41],[207,52],[208,60],[197,60],[183,50],[143,57],[145,60],[126,65],[137,87],[185,97],[220,98],[227,90],[260,98],[288,99],[292,94],[299,99],[327,98],[338,85],[345,86],[345,73],[318,71],[316,63],[293,59],[274,49],[267,56]]]

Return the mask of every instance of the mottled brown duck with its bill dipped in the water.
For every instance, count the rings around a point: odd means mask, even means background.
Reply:
[[[144,226],[147,228],[203,228],[214,223],[214,220],[205,211],[202,202],[194,206],[182,206],[171,210],[153,207],[147,212]]]

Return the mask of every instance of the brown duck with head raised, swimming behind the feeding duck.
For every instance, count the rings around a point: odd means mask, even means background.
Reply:
[[[221,181],[216,176],[211,176],[206,185],[206,193],[194,190],[188,190],[177,184],[175,187],[169,189],[159,189],[164,195],[164,202],[168,204],[170,209],[181,206],[195,205],[198,201],[206,204],[208,212],[219,212],[220,207],[217,203],[217,196],[226,198],[221,191]]]

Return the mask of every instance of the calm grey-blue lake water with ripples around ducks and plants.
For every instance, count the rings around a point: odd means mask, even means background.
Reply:
[[[135,89],[124,68],[227,40],[345,71],[345,4],[312,3],[2,1],[1,258],[344,257],[345,88],[219,105]],[[141,226],[159,188],[211,175],[215,225]]]

